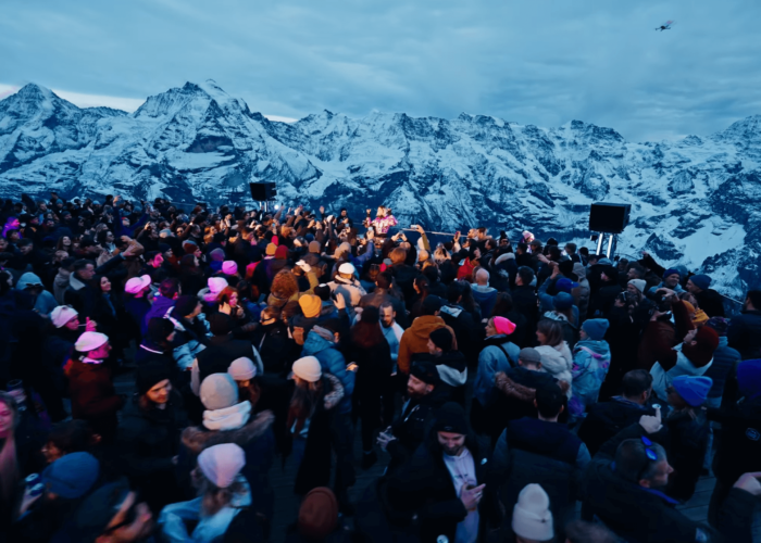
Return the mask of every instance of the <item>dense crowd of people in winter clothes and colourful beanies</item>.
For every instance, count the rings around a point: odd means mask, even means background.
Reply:
[[[0,204],[2,541],[761,541],[761,291],[385,207]]]

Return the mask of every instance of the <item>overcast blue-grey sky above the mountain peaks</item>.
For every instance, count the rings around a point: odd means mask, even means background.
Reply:
[[[34,81],[134,111],[212,78],[282,117],[467,112],[677,138],[761,114],[760,20],[756,0],[3,0],[0,97]]]

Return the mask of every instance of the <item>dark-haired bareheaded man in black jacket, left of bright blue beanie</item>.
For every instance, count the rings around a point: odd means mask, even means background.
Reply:
[[[578,429],[578,437],[594,456],[602,444],[624,428],[635,424],[643,415],[654,415],[648,405],[652,394],[652,376],[644,369],[624,375],[623,394],[609,402],[598,402],[589,407],[587,417]]]

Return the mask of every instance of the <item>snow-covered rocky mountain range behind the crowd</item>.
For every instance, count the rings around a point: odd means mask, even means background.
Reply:
[[[133,114],[79,109],[27,85],[0,101],[0,195],[120,193],[250,200],[275,181],[288,203],[353,216],[382,203],[402,224],[479,225],[588,241],[589,204],[632,204],[619,251],[710,273],[725,291],[761,285],[761,116],[712,136],[627,142],[572,121],[521,126],[324,111],[267,121],[214,81],[150,97]]]

